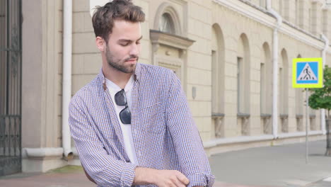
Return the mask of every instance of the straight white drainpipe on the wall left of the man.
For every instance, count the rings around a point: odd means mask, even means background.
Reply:
[[[69,130],[69,102],[71,99],[72,0],[63,0],[63,82],[62,82],[62,147],[64,159],[72,159]]]

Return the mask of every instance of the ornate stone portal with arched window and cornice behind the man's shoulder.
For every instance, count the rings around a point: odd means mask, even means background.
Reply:
[[[171,2],[164,2],[156,11],[153,27],[149,30],[152,64],[173,70],[187,91],[187,48],[194,40],[182,37],[182,11]],[[175,42],[174,42],[175,41]],[[196,88],[192,88],[195,97]]]

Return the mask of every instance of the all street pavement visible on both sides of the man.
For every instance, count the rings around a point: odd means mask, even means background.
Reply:
[[[215,154],[209,158],[215,187],[331,187],[331,157],[326,142],[257,147]],[[45,174],[24,173],[0,177],[0,186],[93,187],[80,166],[66,166]]]

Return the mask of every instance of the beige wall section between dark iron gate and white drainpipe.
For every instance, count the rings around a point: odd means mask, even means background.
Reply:
[[[22,7],[23,171],[47,171],[66,164],[55,154],[62,151],[62,1],[23,1]]]

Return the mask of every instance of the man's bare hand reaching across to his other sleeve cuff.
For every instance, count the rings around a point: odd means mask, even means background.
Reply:
[[[159,187],[185,187],[190,183],[185,175],[176,170],[158,170],[137,167],[134,185],[155,184]]]

